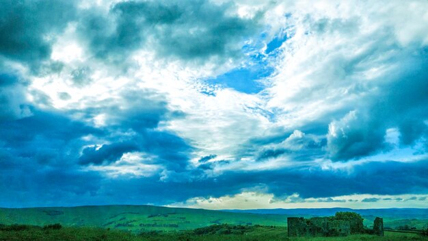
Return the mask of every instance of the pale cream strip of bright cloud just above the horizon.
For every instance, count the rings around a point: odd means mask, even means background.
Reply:
[[[192,207],[208,210],[252,210],[267,208],[329,208],[347,207],[370,208],[419,207],[427,208],[427,195],[373,195],[358,194],[332,196],[328,198],[303,199],[299,194],[276,198],[273,194],[260,192],[241,192],[239,194],[219,197],[196,197],[184,203],[174,203],[172,207]]]

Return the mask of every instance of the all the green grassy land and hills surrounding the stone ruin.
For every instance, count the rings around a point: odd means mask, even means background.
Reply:
[[[287,211],[290,214],[254,214],[150,205],[0,208],[0,240],[428,240],[419,233],[393,231],[386,231],[384,237],[351,235],[336,238],[289,238],[286,230],[287,217],[324,216],[327,214],[325,212],[337,210],[315,210],[318,213],[313,210],[303,210],[306,213],[300,210]],[[425,213],[410,215],[412,212],[409,211],[403,215],[399,211],[382,213],[386,229],[427,228]],[[363,216],[364,225],[373,225],[374,216]]]

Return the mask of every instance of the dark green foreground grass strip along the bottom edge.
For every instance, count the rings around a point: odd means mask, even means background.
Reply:
[[[0,240],[7,241],[401,241],[401,240],[428,240],[416,233],[386,232],[385,237],[370,235],[353,235],[337,238],[288,238],[284,227],[248,227],[241,233],[206,233],[198,234],[196,231],[180,231],[170,233],[148,232],[133,234],[120,230],[99,229],[90,227],[63,227],[61,229],[42,229],[41,227],[27,227],[23,230],[0,231]]]

